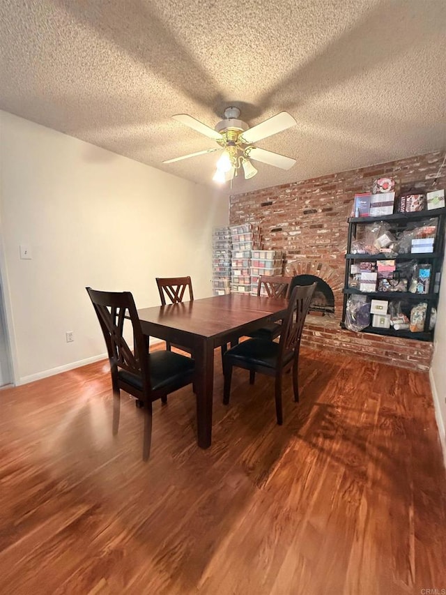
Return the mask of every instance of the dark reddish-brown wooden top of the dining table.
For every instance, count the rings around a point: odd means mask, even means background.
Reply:
[[[229,294],[141,308],[138,315],[143,324],[148,322],[196,336],[214,338],[251,322],[278,319],[287,307],[286,299]]]

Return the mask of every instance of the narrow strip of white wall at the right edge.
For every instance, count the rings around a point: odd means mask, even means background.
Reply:
[[[438,316],[435,329],[435,351],[430,370],[433,402],[443,458],[446,465],[446,255],[443,262],[443,280],[438,301]]]

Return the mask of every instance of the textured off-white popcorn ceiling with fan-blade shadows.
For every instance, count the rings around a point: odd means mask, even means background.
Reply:
[[[2,0],[0,108],[207,184],[216,154],[162,165],[214,146],[173,114],[290,112],[257,146],[296,165],[242,193],[445,148],[445,29],[444,0]]]

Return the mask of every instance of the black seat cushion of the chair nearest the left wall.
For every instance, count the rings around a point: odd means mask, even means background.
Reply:
[[[192,372],[195,366],[192,358],[168,351],[157,351],[148,354],[148,361],[151,370],[151,389],[153,391],[168,388],[169,385],[175,384],[187,372]],[[128,382],[128,384],[142,391],[142,379],[139,375],[127,370],[119,370],[118,377],[123,382]]]

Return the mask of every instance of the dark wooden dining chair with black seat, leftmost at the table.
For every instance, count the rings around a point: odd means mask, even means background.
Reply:
[[[137,308],[130,292],[100,292],[86,287],[99,319],[109,356],[113,389],[113,434],[118,433],[121,390],[137,398],[144,410],[143,459],[151,449],[152,402],[194,381],[194,360],[166,350],[148,352]],[[124,338],[124,322],[132,326],[133,351]],[[130,333],[130,329],[129,329]]]

